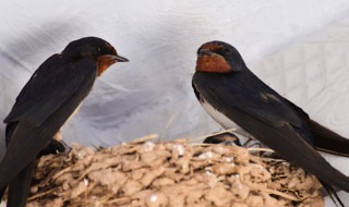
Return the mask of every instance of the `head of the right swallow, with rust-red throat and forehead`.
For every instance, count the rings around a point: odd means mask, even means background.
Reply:
[[[224,41],[209,41],[197,50],[196,71],[232,73],[244,69],[239,51]]]

